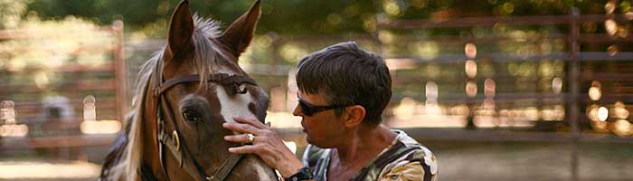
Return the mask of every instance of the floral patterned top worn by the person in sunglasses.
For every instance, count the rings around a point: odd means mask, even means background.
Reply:
[[[438,162],[429,148],[420,145],[402,130],[392,131],[398,134],[392,145],[384,148],[350,180],[437,180]],[[327,180],[331,152],[329,148],[307,146],[303,162],[310,167],[316,181]]]

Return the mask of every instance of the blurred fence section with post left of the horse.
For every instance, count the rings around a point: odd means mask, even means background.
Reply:
[[[46,32],[49,30],[41,30]],[[87,30],[78,30],[90,32]],[[116,21],[109,26],[97,27],[92,30],[104,34],[103,37],[90,37],[95,39],[111,39],[103,43],[78,43],[69,54],[69,60],[64,60],[54,69],[43,66],[26,66],[14,68],[0,65],[0,101],[11,100],[10,108],[0,105],[0,133],[15,132],[14,128],[25,126],[26,135],[0,137],[0,153],[15,150],[41,149],[51,151],[65,148],[80,148],[80,155],[90,152],[84,148],[105,148],[114,140],[116,134],[87,134],[80,128],[90,101],[90,114],[93,119],[123,121],[128,111],[127,86],[126,86],[126,62],[124,60],[124,31],[123,23]],[[41,33],[40,32],[40,33]],[[73,33],[73,32],[65,32]],[[0,43],[20,41],[36,42],[50,41],[58,37],[46,37],[46,35],[33,35],[26,30],[0,30]],[[65,37],[65,36],[64,36]],[[76,38],[76,37],[73,37]],[[89,38],[89,37],[86,37]],[[71,38],[69,38],[70,41]],[[77,39],[79,42],[79,39]],[[74,43],[74,42],[73,42]],[[112,43],[112,44],[109,44]],[[12,44],[13,48],[23,52],[33,51],[33,47],[22,48]],[[41,47],[43,52],[52,52],[57,47]],[[74,61],[81,53],[103,53],[101,63],[82,63]],[[61,52],[57,52],[61,53]],[[3,59],[5,57],[0,57]],[[7,57],[10,58],[10,57]],[[29,61],[46,62],[50,57],[30,57]],[[5,60],[0,60],[5,61]],[[38,78],[38,73],[43,78]],[[38,80],[39,79],[39,80]],[[93,100],[89,98],[92,97]],[[50,99],[50,100],[47,100]],[[4,103],[4,102],[3,102]],[[87,110],[88,109],[88,110]],[[5,117],[5,111],[12,111],[10,117]],[[90,117],[90,116],[89,116]],[[14,119],[9,122],[5,119]],[[116,124],[115,124],[116,125]],[[23,131],[23,130],[20,130]],[[20,132],[18,131],[18,132]],[[63,152],[63,153],[67,153]],[[61,152],[59,153],[61,154]],[[62,154],[63,155],[63,154]],[[74,157],[69,154],[59,157]],[[100,160],[101,158],[98,158]]]

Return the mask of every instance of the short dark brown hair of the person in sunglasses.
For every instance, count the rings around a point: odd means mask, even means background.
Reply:
[[[392,98],[392,79],[383,58],[354,42],[337,43],[308,54],[298,63],[298,89],[322,93],[335,105],[361,105],[364,123],[377,126]],[[337,116],[344,109],[337,109]]]

